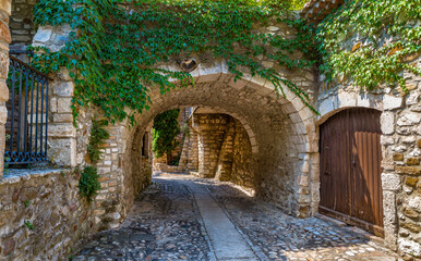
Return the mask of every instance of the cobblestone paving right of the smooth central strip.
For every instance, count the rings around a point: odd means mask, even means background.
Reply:
[[[209,185],[232,222],[269,260],[400,260],[383,248],[380,238],[356,227],[340,227],[324,219],[296,219],[275,206],[248,197],[232,186]]]

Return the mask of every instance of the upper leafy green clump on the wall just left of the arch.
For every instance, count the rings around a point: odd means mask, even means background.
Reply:
[[[87,154],[92,163],[100,160],[103,152],[99,150],[99,146],[110,137],[107,129],[104,128],[105,124],[104,121],[92,121],[89,144],[87,145]]]

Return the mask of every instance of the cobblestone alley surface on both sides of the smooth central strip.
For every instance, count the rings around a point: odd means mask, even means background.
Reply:
[[[200,184],[239,229],[255,260],[400,260],[359,229],[320,217],[294,219],[228,183],[159,173],[123,225],[96,235],[73,261],[215,260],[192,195]]]

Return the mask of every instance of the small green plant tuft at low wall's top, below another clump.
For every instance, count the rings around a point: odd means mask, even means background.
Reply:
[[[79,192],[82,197],[86,197],[87,201],[92,201],[93,197],[100,189],[99,175],[95,166],[85,166],[79,179]]]

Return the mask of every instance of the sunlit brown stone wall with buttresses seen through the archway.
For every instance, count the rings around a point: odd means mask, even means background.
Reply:
[[[258,186],[249,135],[238,120],[227,114],[194,113],[189,124],[182,170],[243,187]],[[197,169],[189,165],[193,161],[197,162]]]

